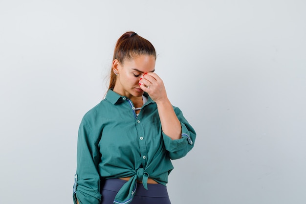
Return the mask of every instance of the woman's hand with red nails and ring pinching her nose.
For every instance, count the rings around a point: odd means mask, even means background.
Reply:
[[[145,73],[139,80],[140,88],[146,91],[155,103],[167,100],[167,93],[163,80],[153,72]]]

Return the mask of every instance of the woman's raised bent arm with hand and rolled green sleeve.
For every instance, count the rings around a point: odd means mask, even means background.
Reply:
[[[179,108],[171,105],[163,81],[157,74],[150,72],[143,77],[139,82],[140,88],[146,91],[157,104],[162,137],[169,157],[182,158],[194,147],[196,132]]]

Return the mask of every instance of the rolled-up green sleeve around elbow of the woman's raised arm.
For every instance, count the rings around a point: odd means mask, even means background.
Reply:
[[[165,148],[169,152],[170,159],[179,159],[186,156],[187,153],[194,147],[196,132],[183,116],[180,109],[174,107],[174,110],[178,120],[181,123],[181,138],[173,140],[163,132],[162,136]]]

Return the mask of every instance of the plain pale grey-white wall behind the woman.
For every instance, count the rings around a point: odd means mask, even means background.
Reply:
[[[0,0],[0,204],[72,204],[77,130],[135,31],[197,131],[173,204],[306,203],[305,0]]]

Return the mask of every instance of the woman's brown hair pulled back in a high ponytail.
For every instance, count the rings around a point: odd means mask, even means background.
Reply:
[[[124,33],[116,43],[112,60],[117,59],[119,63],[123,64],[125,60],[131,60],[137,55],[153,55],[156,59],[155,48],[148,40],[132,31]],[[111,68],[109,89],[115,87],[116,79],[116,75]]]

